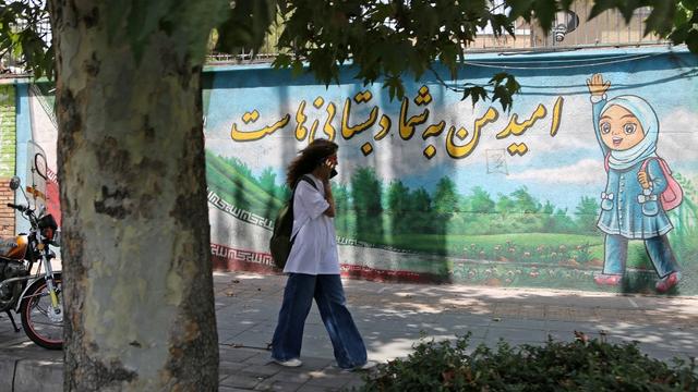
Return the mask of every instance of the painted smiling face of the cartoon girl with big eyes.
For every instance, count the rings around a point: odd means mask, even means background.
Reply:
[[[640,121],[627,109],[612,105],[599,120],[601,139],[613,150],[626,150],[637,146],[645,138]]]

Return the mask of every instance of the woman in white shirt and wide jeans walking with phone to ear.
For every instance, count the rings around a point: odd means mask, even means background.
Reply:
[[[338,146],[313,140],[290,163],[287,184],[293,191],[293,246],[284,272],[288,273],[284,303],[272,340],[272,359],[288,367],[301,366],[303,327],[313,298],[342,369],[369,369],[366,348],[347,309],[339,277],[335,238],[335,200],[329,179],[336,174]]]

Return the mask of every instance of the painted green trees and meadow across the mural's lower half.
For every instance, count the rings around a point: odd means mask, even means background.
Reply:
[[[272,168],[254,174],[236,158],[206,155],[207,181],[228,204],[274,220],[289,197]],[[671,211],[672,247],[684,268],[683,294],[696,294],[698,271],[697,194],[675,173],[684,203]],[[595,228],[599,203],[581,197],[574,210],[534,198],[522,186],[491,195],[474,186],[458,193],[449,177],[431,192],[400,181],[384,183],[372,168],[359,168],[349,183],[334,183],[338,237],[358,246],[402,252],[400,268],[431,273],[443,282],[497,286],[609,290],[593,283],[603,267],[603,235]],[[340,241],[340,244],[342,242]],[[652,292],[657,274],[641,242],[630,242],[628,275],[617,290]],[[344,264],[364,265],[344,259]],[[371,268],[390,268],[376,265]],[[397,267],[397,266],[396,266]]]

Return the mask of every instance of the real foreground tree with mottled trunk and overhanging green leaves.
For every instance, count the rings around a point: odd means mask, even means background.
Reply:
[[[217,389],[201,102],[213,27],[219,49],[254,49],[278,5],[278,66],[302,72],[306,61],[329,84],[352,61],[359,79],[399,97],[401,77],[434,61],[456,76],[479,27],[513,34],[515,17],[534,14],[547,30],[570,2],[508,0],[507,16],[485,0],[1,1],[0,53],[56,77],[64,389]],[[696,1],[604,0],[593,14],[618,8],[629,19],[641,5],[654,7],[648,30],[698,51]],[[518,89],[498,74],[462,91],[506,108]]]

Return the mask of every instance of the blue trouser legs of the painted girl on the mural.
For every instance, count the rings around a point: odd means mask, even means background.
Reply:
[[[645,248],[652,260],[654,270],[660,278],[677,271],[676,258],[669,244],[666,235],[660,235],[645,240]],[[623,274],[625,262],[628,258],[628,238],[622,235],[606,234],[605,260],[603,262],[603,273]]]

